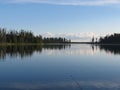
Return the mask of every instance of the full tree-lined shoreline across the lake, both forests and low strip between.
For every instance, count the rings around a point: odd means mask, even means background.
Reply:
[[[93,45],[120,45],[120,33],[92,38],[90,42],[71,42],[63,37],[42,37],[31,31],[9,30],[0,28],[0,46],[4,45],[60,45],[60,44],[93,44]]]

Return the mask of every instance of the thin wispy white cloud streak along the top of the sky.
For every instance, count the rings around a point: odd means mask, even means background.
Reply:
[[[0,0],[3,2],[3,0]],[[120,4],[120,0],[4,0],[10,3],[47,3],[58,5],[112,5]]]

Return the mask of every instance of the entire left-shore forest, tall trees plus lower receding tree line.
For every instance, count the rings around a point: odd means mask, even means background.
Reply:
[[[42,43],[70,43],[65,38],[42,38],[41,35],[34,35],[31,31],[9,30],[0,28],[0,44],[42,44]]]

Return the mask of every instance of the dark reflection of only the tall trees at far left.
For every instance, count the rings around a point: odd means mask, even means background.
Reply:
[[[20,56],[21,58],[23,58],[25,56],[31,56],[34,53],[34,51],[41,52],[42,46],[0,46],[0,58],[5,59],[7,55],[9,55],[10,57]]]

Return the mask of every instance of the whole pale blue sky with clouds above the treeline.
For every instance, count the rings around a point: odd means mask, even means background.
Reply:
[[[86,39],[119,32],[119,5],[120,0],[0,0],[0,27]]]

